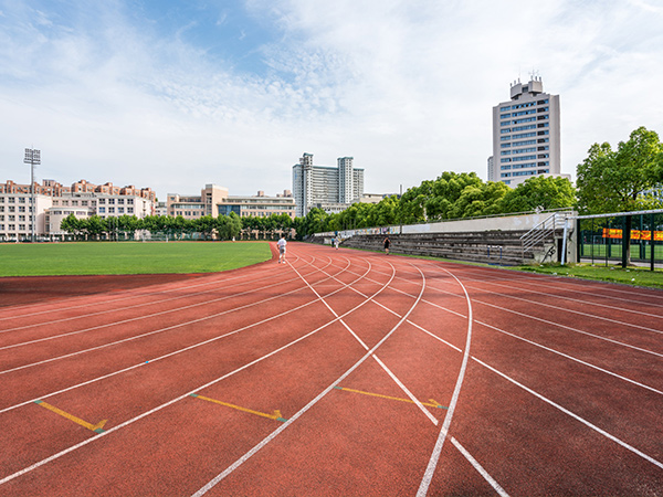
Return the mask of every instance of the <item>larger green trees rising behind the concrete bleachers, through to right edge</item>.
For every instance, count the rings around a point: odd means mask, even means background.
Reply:
[[[663,144],[640,127],[615,150],[594,144],[577,167],[577,186],[536,176],[516,188],[484,182],[474,172],[443,172],[377,204],[356,203],[338,214],[313,209],[298,221],[303,234],[449,219],[572,208],[581,214],[663,208]]]

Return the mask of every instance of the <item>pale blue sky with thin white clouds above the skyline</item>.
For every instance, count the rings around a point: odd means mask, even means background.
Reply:
[[[0,181],[291,189],[303,152],[367,192],[486,179],[492,107],[536,71],[562,172],[663,135],[663,1],[0,0]]]

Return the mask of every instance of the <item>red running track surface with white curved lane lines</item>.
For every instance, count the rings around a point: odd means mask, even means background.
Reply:
[[[76,279],[0,281],[0,496],[663,495],[661,292],[295,243]]]

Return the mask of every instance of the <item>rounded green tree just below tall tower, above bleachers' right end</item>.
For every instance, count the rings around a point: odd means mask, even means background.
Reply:
[[[503,213],[570,208],[576,189],[567,178],[535,176],[508,190],[502,199]]]

